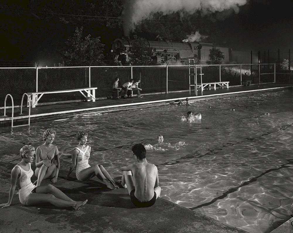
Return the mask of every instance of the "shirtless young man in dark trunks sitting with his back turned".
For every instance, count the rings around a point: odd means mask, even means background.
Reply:
[[[150,207],[161,194],[158,169],[147,162],[147,151],[143,144],[132,146],[132,152],[137,162],[120,168],[123,171],[121,185],[127,188],[130,200],[136,207]]]

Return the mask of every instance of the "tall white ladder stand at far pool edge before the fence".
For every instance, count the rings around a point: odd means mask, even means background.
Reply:
[[[197,96],[197,90],[198,88],[201,89],[201,93],[202,93],[202,67],[201,64],[199,64],[199,66],[197,66],[195,64],[195,60],[194,59],[188,59],[189,62],[189,95],[191,95],[191,87],[194,86],[194,94]],[[200,82],[197,82],[197,76],[200,76]]]

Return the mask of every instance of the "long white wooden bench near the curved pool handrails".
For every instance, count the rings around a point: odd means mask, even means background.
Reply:
[[[77,89],[69,89],[69,90],[59,90],[59,91],[40,91],[40,92],[29,92],[27,93],[29,98],[27,102],[27,106],[30,106],[32,108],[35,108],[38,104],[38,101],[44,94],[54,94],[54,93],[66,93],[66,92],[75,92],[79,91],[86,99],[87,101],[96,101],[96,89],[97,87],[85,87],[85,88],[77,88]],[[85,93],[84,93],[85,92]]]

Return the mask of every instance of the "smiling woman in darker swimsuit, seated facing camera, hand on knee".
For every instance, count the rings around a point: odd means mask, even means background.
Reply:
[[[55,135],[55,130],[46,130],[43,133],[44,144],[37,147],[35,170],[35,175],[38,177],[37,186],[47,178],[51,178],[52,183],[57,182],[60,160],[58,148],[52,144]]]

